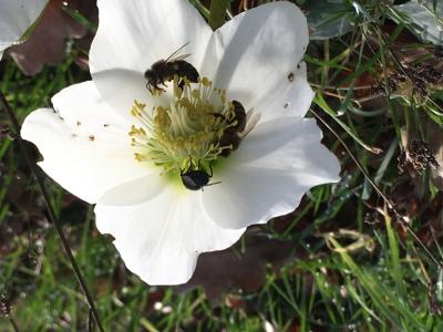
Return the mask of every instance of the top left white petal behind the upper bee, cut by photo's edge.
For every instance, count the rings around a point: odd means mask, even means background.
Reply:
[[[199,68],[212,34],[186,0],[100,0],[90,69],[103,100],[121,114],[134,100],[150,103],[144,72],[189,42],[178,55]]]

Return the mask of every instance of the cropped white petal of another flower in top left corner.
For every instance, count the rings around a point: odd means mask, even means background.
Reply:
[[[49,0],[0,0],[0,60],[39,18]]]

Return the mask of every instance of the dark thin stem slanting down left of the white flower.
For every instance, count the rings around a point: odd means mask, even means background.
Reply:
[[[63,249],[64,249],[64,251],[66,253],[68,260],[70,261],[70,264],[71,264],[72,269],[74,270],[74,273],[75,273],[75,277],[76,277],[76,279],[78,279],[78,281],[80,283],[80,287],[81,287],[83,293],[86,297],[87,304],[89,304],[89,307],[90,307],[90,309],[92,311],[92,314],[93,314],[93,317],[95,319],[97,328],[99,328],[100,331],[104,331],[103,326],[102,326],[102,323],[100,321],[100,318],[99,318],[99,313],[97,313],[97,311],[95,309],[94,301],[93,301],[93,299],[91,297],[91,293],[90,293],[90,291],[87,289],[86,283],[84,282],[82,273],[80,272],[79,266],[78,266],[78,263],[76,263],[76,261],[75,261],[75,259],[74,259],[74,257],[72,255],[71,247],[70,247],[70,245],[69,245],[69,242],[66,240],[66,237],[65,237],[65,235],[63,232],[63,229],[62,229],[58,218],[55,217],[55,211],[54,211],[54,209],[53,209],[53,207],[51,205],[51,200],[50,200],[50,196],[48,194],[47,187],[44,186],[44,176],[42,175],[40,169],[37,167],[37,165],[34,163],[32,163],[31,158],[29,157],[29,154],[28,154],[27,147],[24,145],[24,142],[20,136],[20,124],[19,124],[19,122],[18,122],[18,120],[16,117],[16,114],[13,113],[11,106],[9,105],[9,103],[6,100],[6,97],[4,97],[2,92],[0,92],[0,106],[4,110],[4,112],[7,113],[9,120],[10,120],[10,122],[12,124],[14,137],[17,137],[17,141],[18,141],[18,143],[20,145],[20,148],[21,148],[22,153],[23,153],[24,159],[25,159],[29,168],[31,169],[32,175],[35,178],[35,181],[37,181],[37,184],[38,184],[38,186],[40,188],[40,191],[43,195],[43,199],[44,199],[44,203],[45,203],[47,208],[48,208],[49,218],[50,218],[52,225],[54,225],[54,227],[56,229],[56,232],[58,232],[58,235],[60,237],[60,240],[62,241],[62,246],[63,246]]]

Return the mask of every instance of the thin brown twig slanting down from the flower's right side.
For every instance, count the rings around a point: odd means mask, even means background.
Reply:
[[[394,211],[396,217],[400,217],[402,219],[402,226],[408,230],[410,235],[420,243],[420,246],[424,249],[424,251],[427,253],[427,256],[434,261],[434,263],[443,268],[443,264],[432,255],[432,252],[424,246],[424,243],[419,239],[419,237],[415,235],[415,232],[409,227],[410,220],[408,217],[402,216],[399,214],[393,205],[393,203],[389,199],[389,197],[379,188],[379,186],[373,181],[373,179],[370,177],[368,172],[363,168],[363,166],[360,164],[360,162],[356,158],[356,156],[352,154],[351,149],[348,147],[348,145],[344,143],[344,141],[336,133],[334,129],[320,116],[317,114],[316,111],[312,108],[309,110],[336,137],[337,139],[341,143],[341,145],[344,147],[344,149],[348,152],[349,156],[352,158],[352,160],[356,163],[357,167],[361,170],[365,179],[370,183],[370,185],[374,188],[374,190],[379,194],[379,196],[384,200],[384,203],[388,205],[388,207]]]

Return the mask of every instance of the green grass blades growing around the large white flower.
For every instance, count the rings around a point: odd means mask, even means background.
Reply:
[[[194,2],[205,12],[204,3]],[[442,260],[437,218],[443,195],[429,169],[421,175],[400,174],[396,160],[404,148],[402,131],[427,143],[431,126],[442,131],[442,93],[435,90],[415,102],[409,96],[381,96],[380,105],[359,103],[360,86],[368,85],[362,77],[383,82],[383,73],[404,71],[390,50],[410,27],[389,21],[384,1],[354,2],[361,6],[359,15],[356,7],[347,4],[342,14],[354,18],[354,30],[312,42],[306,61],[317,91],[312,110],[347,144],[361,168],[322,126],[324,144],[340,158],[343,180],[312,189],[296,214],[260,227],[266,237],[292,243],[293,256],[278,272],[268,267],[257,290],[234,287],[209,301],[203,289],[177,293],[175,288],[147,287],[124,270],[111,240],[97,232],[92,208],[47,180],[106,331],[264,331],[265,322],[276,331],[443,331],[437,305],[431,310],[430,304],[443,300],[443,273],[429,255]],[[394,27],[383,34],[388,24]],[[74,44],[61,65],[47,66],[32,77],[24,76],[11,59],[1,62],[0,90],[20,121],[49,106],[58,91],[89,79],[74,63],[81,51]],[[3,114],[0,122],[8,124]],[[13,331],[11,318],[20,331],[86,331],[87,302],[11,139],[0,141],[0,300],[3,295],[12,307],[10,318],[0,318],[0,331]],[[362,169],[410,217],[409,230]],[[239,255],[244,250],[254,249],[244,242]],[[228,305],[230,298],[240,304]],[[154,302],[167,310],[157,310]]]

